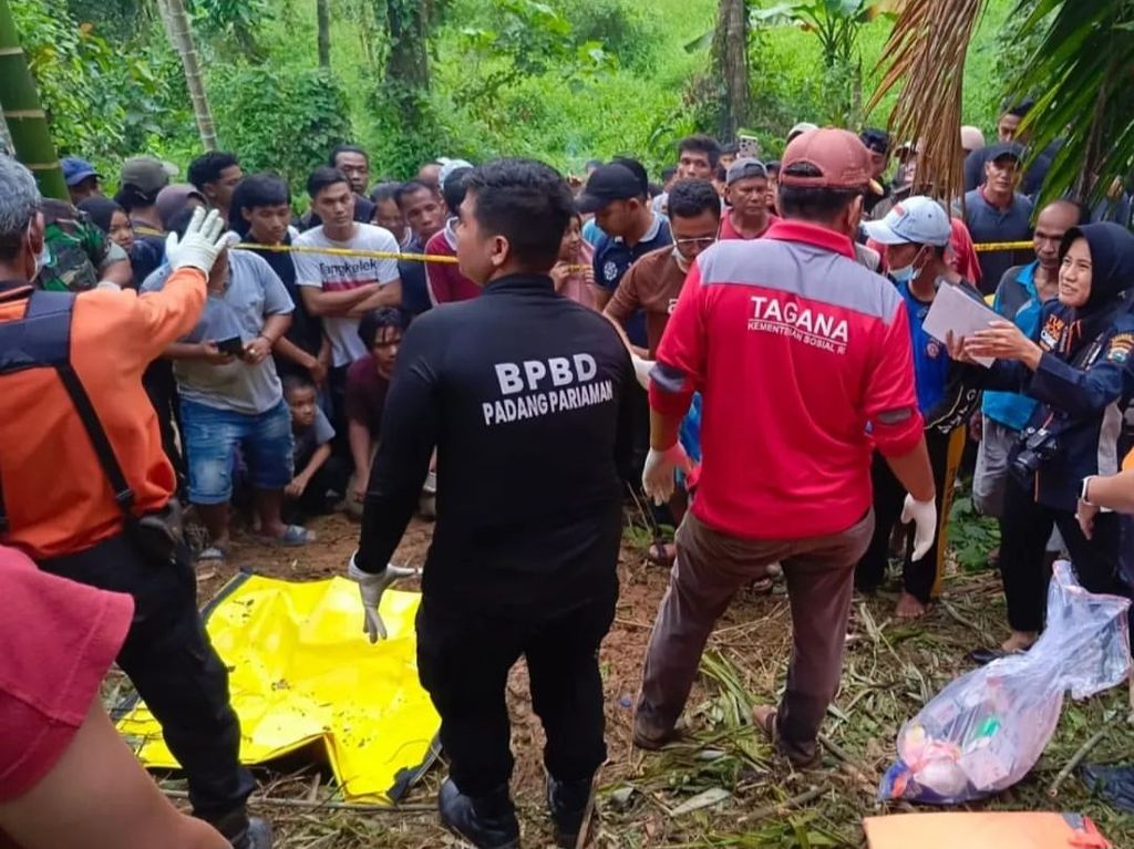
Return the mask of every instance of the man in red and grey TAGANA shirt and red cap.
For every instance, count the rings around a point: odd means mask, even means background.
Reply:
[[[704,398],[702,466],[677,532],[677,564],[650,638],[634,740],[676,736],[701,653],[741,587],[780,562],[795,648],[779,708],[753,721],[797,766],[838,688],[854,568],[870,542],[877,448],[911,493],[915,555],[937,525],[902,297],[854,261],[870,155],[841,129],[795,138],[779,173],[787,219],[753,241],[701,254],[651,374],[646,492],[667,499],[688,467],[677,435]]]

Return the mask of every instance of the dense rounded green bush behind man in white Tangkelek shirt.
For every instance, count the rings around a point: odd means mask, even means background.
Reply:
[[[212,90],[221,146],[239,152],[246,171],[302,185],[331,147],[354,141],[346,95],[323,70],[236,69],[214,76]]]

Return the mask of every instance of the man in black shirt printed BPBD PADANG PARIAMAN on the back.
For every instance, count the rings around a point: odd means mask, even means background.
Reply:
[[[559,175],[501,160],[466,185],[457,256],[484,295],[425,313],[403,340],[350,575],[375,639],[435,445],[417,663],[450,763],[441,820],[482,849],[517,846],[505,688],[523,655],[551,815],[574,846],[607,752],[598,648],[618,594],[634,371],[610,324],[548,275],[573,214]]]

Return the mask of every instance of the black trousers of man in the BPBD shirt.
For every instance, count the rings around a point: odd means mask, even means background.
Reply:
[[[543,763],[561,781],[590,779],[607,758],[599,644],[618,591],[542,621],[446,608],[417,611],[417,671],[441,715],[449,776],[474,799],[511,778],[508,672],[527,659],[532,707],[543,723]]]

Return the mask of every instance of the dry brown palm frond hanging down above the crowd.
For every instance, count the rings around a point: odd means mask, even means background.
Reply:
[[[965,57],[984,0],[906,0],[882,51],[869,113],[900,84],[890,134],[920,143],[916,190],[946,202],[964,195],[960,148]]]

